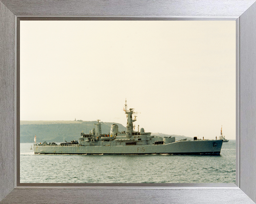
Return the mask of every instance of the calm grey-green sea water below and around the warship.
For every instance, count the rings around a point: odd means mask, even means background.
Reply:
[[[235,140],[209,155],[34,154],[20,144],[20,183],[235,183]]]

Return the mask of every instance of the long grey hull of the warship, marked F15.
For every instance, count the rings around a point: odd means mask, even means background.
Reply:
[[[163,145],[34,146],[35,154],[211,154],[219,155],[222,140],[178,141]]]

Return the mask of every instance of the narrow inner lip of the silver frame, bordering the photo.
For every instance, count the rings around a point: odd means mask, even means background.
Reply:
[[[20,183],[20,21],[236,21],[236,183]],[[15,15],[15,188],[231,189],[240,187],[239,16],[20,16]],[[18,92],[17,92],[18,91]]]

